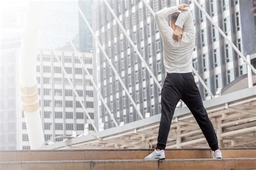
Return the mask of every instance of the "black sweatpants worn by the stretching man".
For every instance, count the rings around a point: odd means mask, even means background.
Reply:
[[[161,90],[161,119],[156,149],[165,149],[174,110],[180,99],[190,109],[212,151],[218,149],[217,136],[203,106],[192,72],[167,73],[166,75]]]

